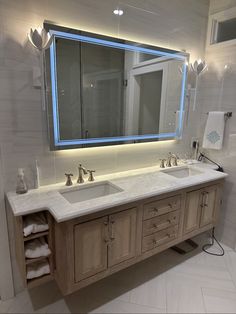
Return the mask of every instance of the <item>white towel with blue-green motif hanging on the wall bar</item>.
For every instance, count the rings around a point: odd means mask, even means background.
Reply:
[[[202,147],[222,149],[225,129],[225,113],[212,111],[208,114]]]

